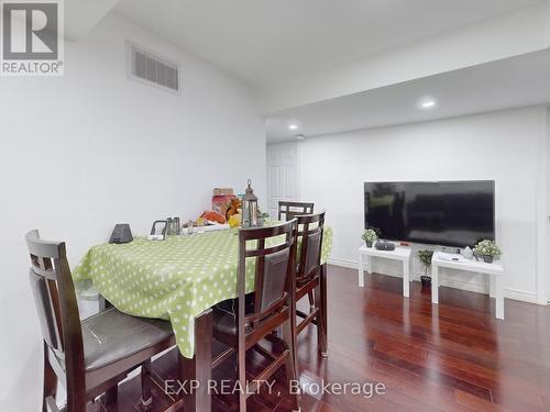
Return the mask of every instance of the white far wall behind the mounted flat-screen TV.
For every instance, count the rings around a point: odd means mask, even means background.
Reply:
[[[506,296],[536,302],[537,253],[543,253],[537,252],[537,226],[548,226],[537,212],[542,205],[548,215],[546,190],[539,187],[543,160],[538,155],[546,138],[546,108],[527,108],[302,142],[301,198],[315,201],[316,210],[327,210],[334,230],[332,261],[356,265],[364,181],[495,179]],[[391,264],[376,269],[400,274]],[[414,274],[420,275],[418,261]],[[483,275],[443,278],[447,285],[487,290]]]

